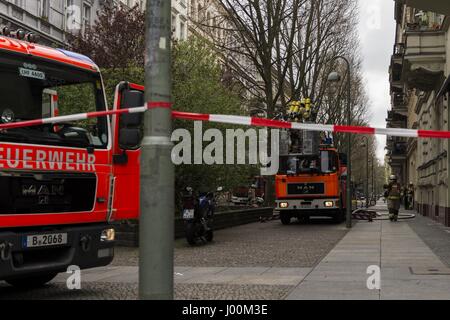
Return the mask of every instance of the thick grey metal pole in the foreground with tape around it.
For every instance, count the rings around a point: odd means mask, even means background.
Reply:
[[[171,102],[171,1],[147,0],[145,99]],[[171,110],[144,116],[139,227],[139,298],[173,299],[174,167]]]

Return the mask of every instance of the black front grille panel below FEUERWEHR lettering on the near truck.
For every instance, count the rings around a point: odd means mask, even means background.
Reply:
[[[76,173],[0,173],[0,214],[91,211],[97,177]]]

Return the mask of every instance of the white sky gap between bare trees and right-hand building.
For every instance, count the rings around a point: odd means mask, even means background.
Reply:
[[[390,109],[389,64],[395,41],[393,0],[358,0],[363,75],[370,98],[370,125],[386,127]],[[377,136],[377,156],[384,161],[386,136]]]

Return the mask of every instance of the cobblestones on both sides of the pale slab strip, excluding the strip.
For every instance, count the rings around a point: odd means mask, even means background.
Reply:
[[[280,221],[252,223],[215,233],[214,242],[189,246],[175,242],[175,265],[186,267],[312,267],[346,234],[344,224],[313,220],[309,224]],[[112,266],[137,266],[136,248],[116,248]],[[226,277],[225,277],[226,278]],[[279,282],[278,282],[279,283]],[[290,285],[260,283],[176,283],[176,299],[283,299]],[[136,282],[83,282],[68,290],[64,282],[41,289],[19,290],[0,282],[0,299],[136,299]]]

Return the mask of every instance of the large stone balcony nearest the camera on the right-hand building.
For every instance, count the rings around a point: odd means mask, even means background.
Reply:
[[[403,72],[411,88],[432,91],[444,77],[446,36],[442,28],[446,22],[441,19],[407,23]]]

